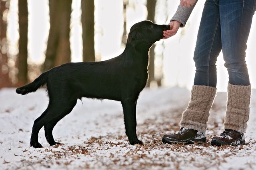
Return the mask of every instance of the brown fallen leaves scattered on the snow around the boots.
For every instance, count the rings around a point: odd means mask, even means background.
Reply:
[[[163,144],[162,135],[168,131],[173,133],[179,129],[178,122],[182,109],[174,109],[158,114],[155,118],[146,119],[138,124],[138,138],[144,145],[129,145],[124,131],[97,136],[84,141],[81,145],[58,144],[53,147],[40,149],[39,157],[30,155],[30,159],[22,161],[24,165],[40,164],[44,167],[61,167],[66,169],[173,169],[186,166],[187,169],[208,169],[216,167],[232,156],[241,152],[250,154],[255,150],[254,139],[250,143],[238,147],[212,147],[210,140],[206,145],[169,145]],[[100,126],[100,125],[99,125]],[[123,130],[123,129],[122,129]],[[212,124],[210,139],[220,131],[217,123]],[[28,150],[23,150],[28,154]],[[30,150],[29,150],[30,151]],[[244,153],[243,153],[244,155]],[[15,155],[14,156],[18,156]],[[4,160],[4,164],[8,164]]]

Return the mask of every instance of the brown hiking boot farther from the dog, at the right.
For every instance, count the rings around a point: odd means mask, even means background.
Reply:
[[[241,145],[245,144],[244,133],[235,130],[225,129],[219,136],[212,138],[211,145],[220,147],[221,145]]]

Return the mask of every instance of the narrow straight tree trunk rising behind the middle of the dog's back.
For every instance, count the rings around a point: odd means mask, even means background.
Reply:
[[[94,0],[81,0],[83,61],[95,61],[94,52]]]

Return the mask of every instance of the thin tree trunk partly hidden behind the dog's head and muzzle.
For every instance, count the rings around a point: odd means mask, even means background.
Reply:
[[[156,0],[147,0],[147,9],[148,9],[148,17],[147,20],[150,20],[152,22],[155,22],[155,8],[156,8]],[[152,45],[150,48],[150,62],[148,66],[148,84],[150,85],[150,82],[155,80],[155,66],[154,66],[154,59],[155,59],[155,53],[154,53],[155,45]]]

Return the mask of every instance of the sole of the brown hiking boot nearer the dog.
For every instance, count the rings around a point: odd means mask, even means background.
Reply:
[[[206,137],[202,139],[194,139],[194,138],[189,138],[184,141],[178,141],[177,139],[170,139],[167,137],[162,137],[162,142],[163,143],[168,143],[168,144],[206,144]]]

